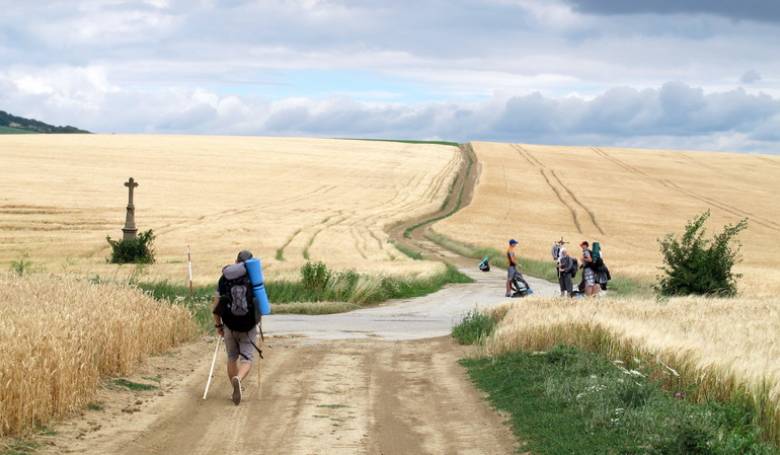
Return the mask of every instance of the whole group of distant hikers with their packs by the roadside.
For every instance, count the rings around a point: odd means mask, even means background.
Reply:
[[[582,253],[579,260],[569,253],[566,248],[568,242],[563,238],[553,243],[552,258],[555,261],[555,270],[558,276],[558,284],[561,288],[561,297],[575,297],[585,295],[593,297],[602,290],[607,289],[607,284],[612,279],[609,269],[604,263],[604,254],[599,242],[593,242],[591,247],[587,240],[580,243]],[[517,264],[517,240],[509,241],[509,248],[506,251],[507,260],[507,280],[506,297],[525,296],[533,294],[533,289],[525,280]],[[480,269],[487,271],[489,265],[487,259],[483,259]],[[577,289],[574,289],[574,278],[577,277],[579,270],[582,270],[581,280]],[[520,291],[518,291],[520,288]]]

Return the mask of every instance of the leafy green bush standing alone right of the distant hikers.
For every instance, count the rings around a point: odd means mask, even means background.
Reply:
[[[731,241],[747,229],[747,219],[735,225],[726,225],[712,240],[704,238],[704,223],[710,217],[706,211],[689,221],[682,238],[668,234],[660,240],[664,257],[664,276],[656,290],[664,296],[712,295],[733,296],[737,293],[737,279],[731,268],[738,262],[740,244]]]

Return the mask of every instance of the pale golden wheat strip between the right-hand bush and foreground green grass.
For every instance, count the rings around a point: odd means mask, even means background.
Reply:
[[[506,311],[506,310],[505,310]],[[536,300],[508,310],[485,343],[500,355],[566,344],[630,362],[695,402],[737,401],[780,445],[780,300]]]

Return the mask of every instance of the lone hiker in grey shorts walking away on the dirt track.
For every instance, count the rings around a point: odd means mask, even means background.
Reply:
[[[255,344],[257,324],[260,322],[252,293],[252,284],[244,262],[252,259],[252,253],[242,250],[233,265],[222,269],[214,297],[214,327],[225,340],[227,374],[233,386],[233,403],[241,402],[241,381],[252,368],[254,351],[263,354]]]

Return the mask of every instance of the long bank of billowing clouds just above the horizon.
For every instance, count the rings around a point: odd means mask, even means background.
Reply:
[[[495,94],[400,103],[221,95],[203,88],[121,89],[99,67],[0,72],[0,104],[98,132],[499,140],[780,152],[780,99],[680,82],[594,97]],[[34,106],[30,108],[29,106]],[[76,119],[76,120],[74,120]]]

